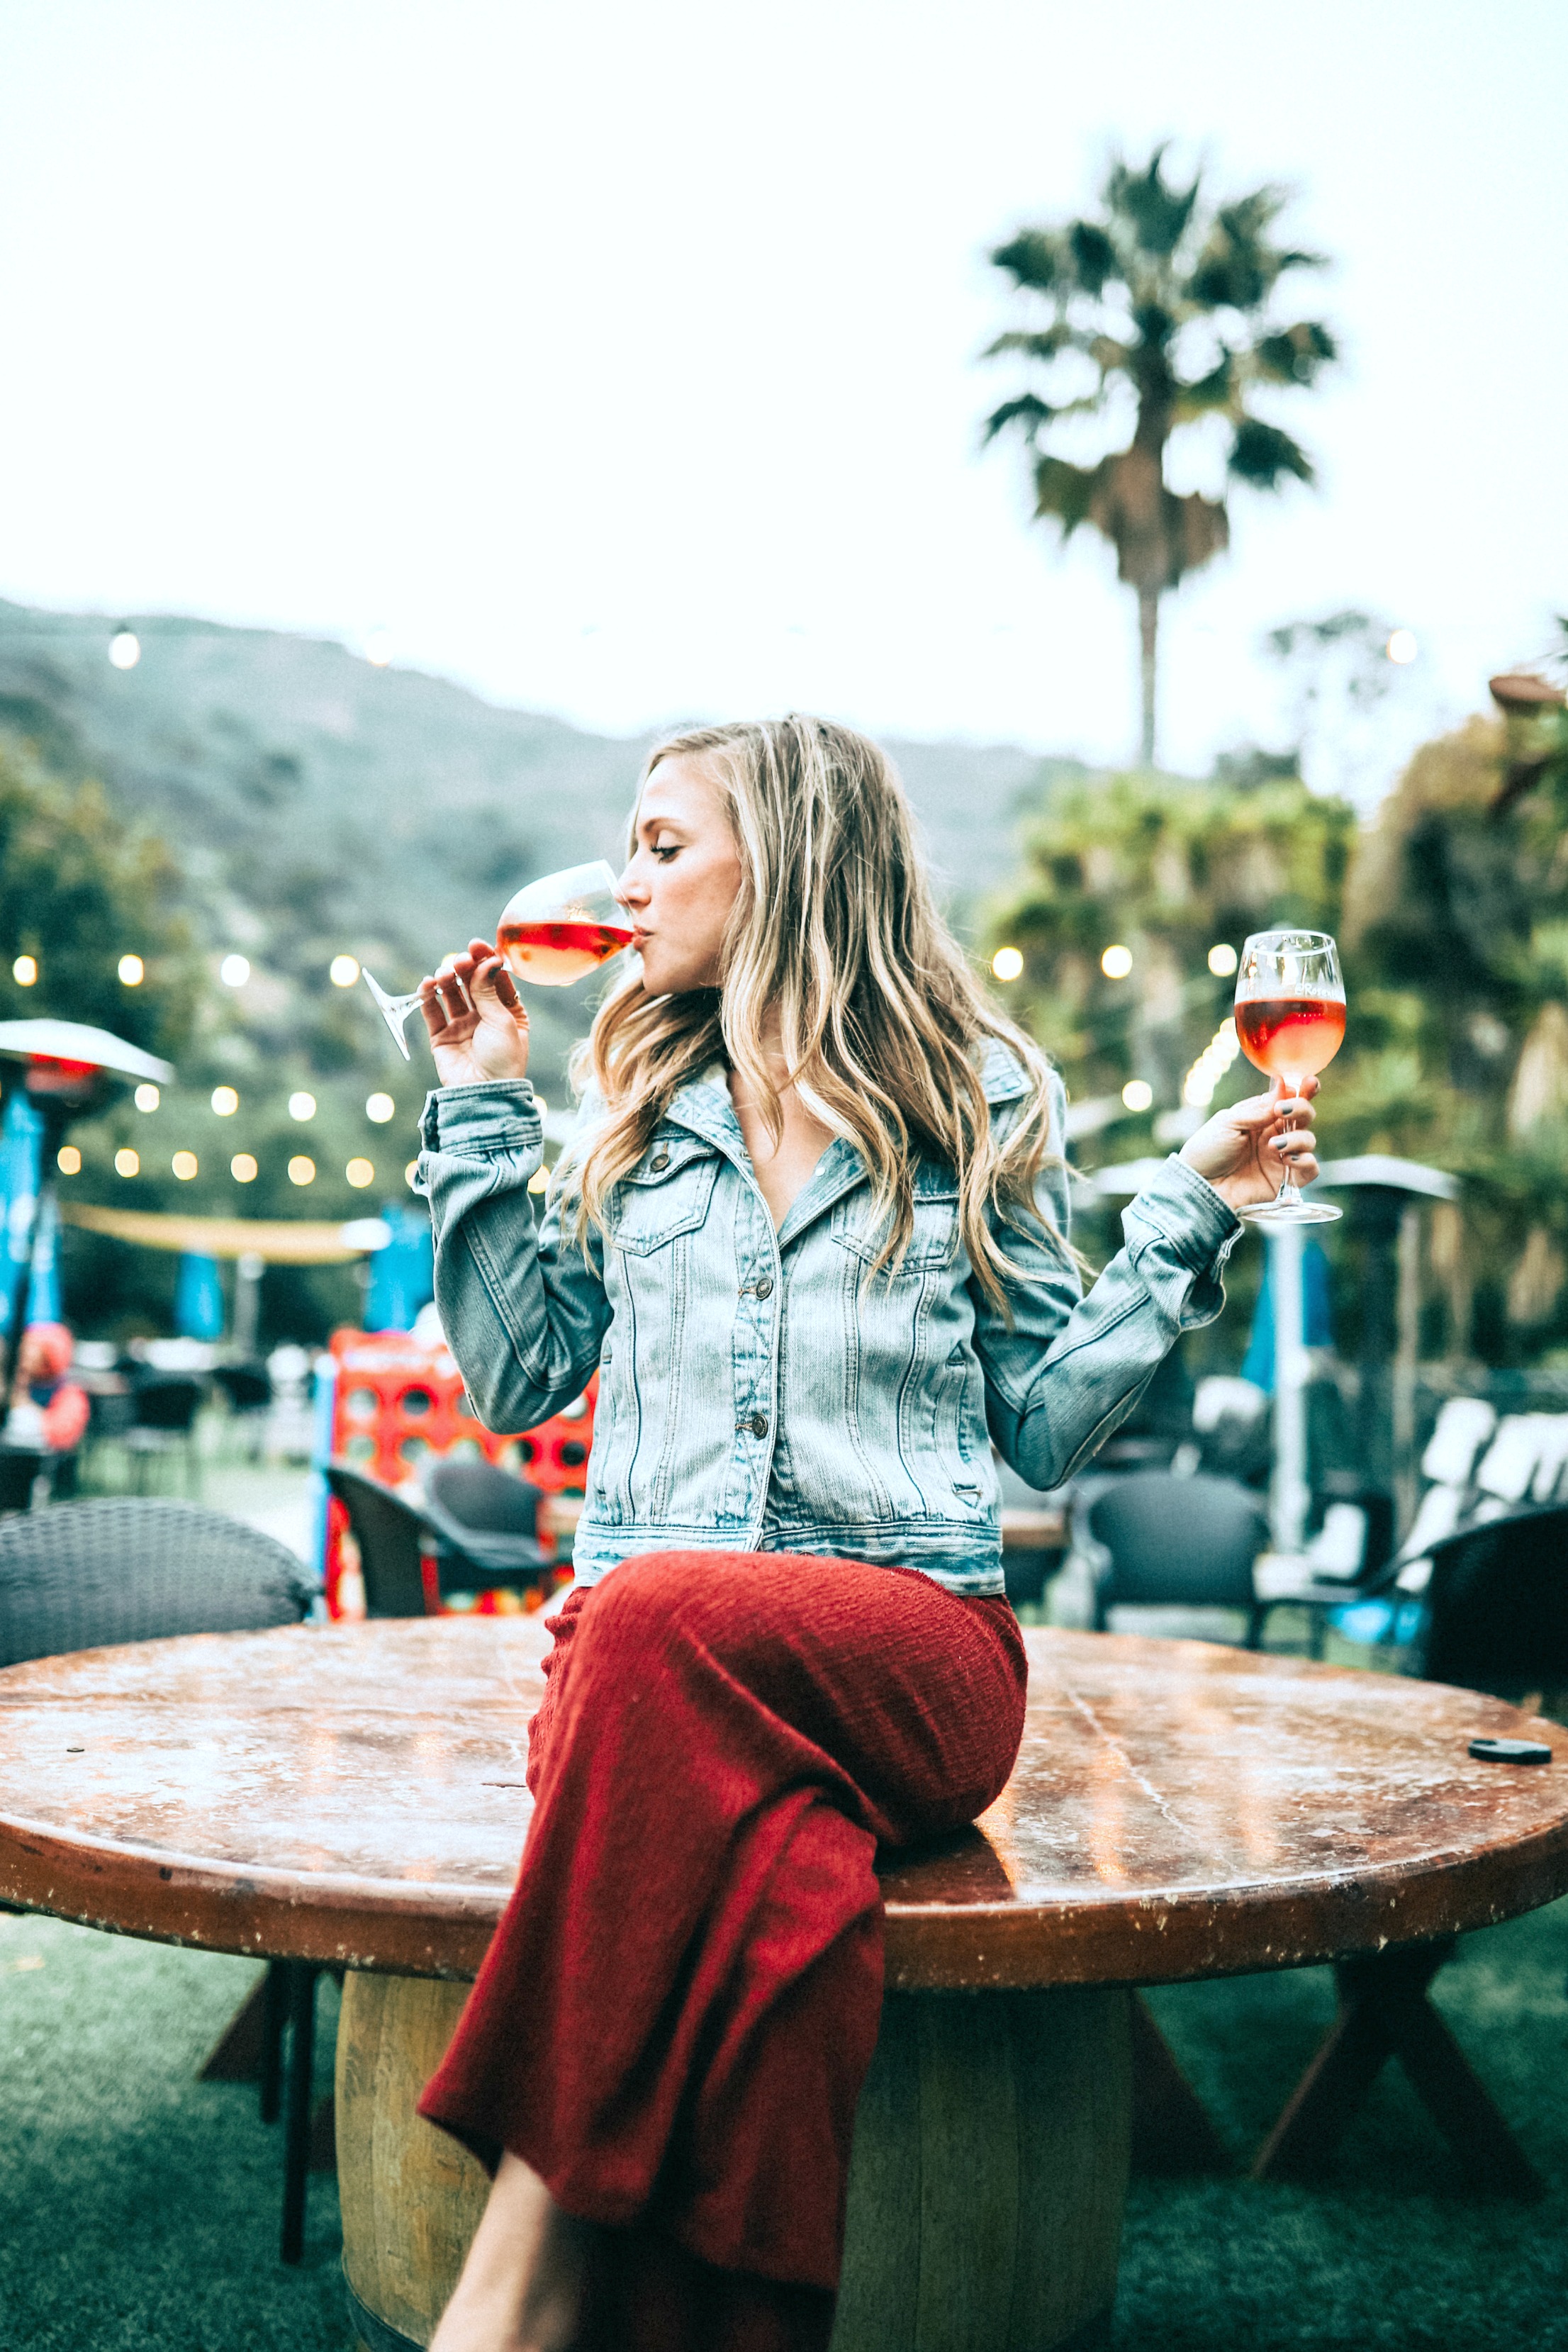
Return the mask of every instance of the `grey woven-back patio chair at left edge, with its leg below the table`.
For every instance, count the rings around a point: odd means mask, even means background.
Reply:
[[[299,1625],[315,1597],[310,1571],[240,1519],[141,1496],[59,1503],[0,1524],[0,1668],[73,1649],[160,1642],[190,1632],[261,1632]],[[240,2018],[261,2023],[261,2114],[275,2122],[282,2030],[292,2016],[282,2185],[282,2258],[299,2263],[310,2159],[315,1978],[306,1962],[273,1959]],[[240,2020],[223,2037],[230,2042]],[[233,2065],[209,2063],[214,2077]]]

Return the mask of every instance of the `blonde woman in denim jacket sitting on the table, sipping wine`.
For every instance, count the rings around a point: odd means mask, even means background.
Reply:
[[[844,727],[663,743],[621,896],[538,1225],[527,1011],[484,941],[423,983],[473,1402],[529,1428],[599,1369],[522,1875],[423,2098],[494,2169],[433,2352],[827,2345],[875,1851],[973,1820],[1023,1731],[992,1439],[1058,1486],[1218,1315],[1234,1209],[1316,1174],[1293,1105],[1220,1112],[1081,1298],[1063,1087]]]

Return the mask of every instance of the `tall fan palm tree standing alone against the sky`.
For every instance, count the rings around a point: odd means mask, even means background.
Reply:
[[[992,261],[1027,294],[1051,303],[1039,329],[1001,334],[985,358],[1020,353],[1046,369],[1051,395],[1023,393],[987,419],[985,440],[1020,433],[1034,461],[1034,513],[1072,539],[1093,524],[1117,550],[1117,576],[1138,590],[1143,764],[1154,764],[1154,647],[1159,600],[1229,541],[1225,499],[1166,487],[1166,445],[1182,426],[1220,416],[1229,426],[1227,470],[1255,489],[1288,475],[1312,482],[1307,452],[1251,412],[1267,386],[1309,386],[1335,358],[1316,320],[1281,325],[1274,287],[1286,270],[1321,268],[1321,254],[1272,242],[1281,188],[1234,205],[1199,205],[1164,174],[1164,146],[1145,169],[1119,162],[1103,188],[1100,221],[1023,228]],[[1133,437],[1098,466],[1074,466],[1046,442],[1067,419],[1135,402]]]

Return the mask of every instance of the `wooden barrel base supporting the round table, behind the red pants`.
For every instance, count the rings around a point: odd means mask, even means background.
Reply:
[[[350,1973],[343,2277],[364,2352],[430,2343],[484,2169],[414,2110],[465,1985]],[[889,1992],[860,2096],[832,2352],[1110,2343],[1131,2138],[1128,1994]]]

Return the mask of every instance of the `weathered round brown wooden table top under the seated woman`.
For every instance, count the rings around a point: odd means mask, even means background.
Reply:
[[[884,1870],[889,1983],[1159,1983],[1568,1889],[1568,1733],[1467,1691],[1032,1632],[976,1830]],[[473,1976],[531,1799],[538,1618],[197,1635],[0,1672],[0,1898],[223,1952]],[[1479,1731],[1559,1755],[1479,1764]]]

